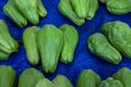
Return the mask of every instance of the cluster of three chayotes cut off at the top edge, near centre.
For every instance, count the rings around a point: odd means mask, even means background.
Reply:
[[[97,0],[60,0],[58,9],[78,26],[84,24],[85,20],[92,20],[98,9]]]

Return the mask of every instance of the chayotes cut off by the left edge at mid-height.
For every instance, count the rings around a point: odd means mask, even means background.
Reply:
[[[8,60],[12,52],[19,50],[19,44],[9,33],[8,25],[0,20],[0,60]]]

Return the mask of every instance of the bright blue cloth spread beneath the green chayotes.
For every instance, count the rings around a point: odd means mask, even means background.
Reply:
[[[24,29],[28,26],[32,26],[32,24],[28,24],[22,29],[15,26],[14,23],[11,20],[9,20],[9,17],[7,17],[2,11],[2,8],[7,2],[8,0],[0,0],[0,18],[7,22],[12,37],[14,37],[17,40],[21,40]],[[119,20],[128,23],[131,26],[130,13],[126,15],[112,15],[106,10],[106,5],[99,3],[99,8],[94,18],[92,21],[87,21],[83,26],[78,27],[71,21],[69,21],[67,17],[60,14],[57,8],[59,0],[43,0],[43,3],[48,11],[48,15],[47,17],[40,20],[40,23],[38,24],[39,27],[43,27],[45,24],[53,24],[58,27],[62,24],[70,24],[78,29],[80,35],[79,45],[75,50],[74,61],[72,63],[63,64],[59,62],[56,72],[50,75],[47,75],[43,72],[41,64],[34,66],[37,70],[41,71],[47,78],[52,79],[56,75],[62,74],[66,75],[75,86],[78,76],[84,69],[94,70],[103,79],[105,79],[108,76],[111,76],[115,72],[117,72],[123,66],[131,69],[131,59],[127,59],[123,57],[120,64],[114,65],[92,54],[88,51],[86,45],[87,37],[93,33],[100,33],[102,26],[106,22]],[[25,69],[33,67],[33,65],[31,65],[26,60],[25,49],[22,44],[20,45],[19,52],[12,53],[8,61],[0,61],[0,64],[12,65],[13,69],[16,71],[17,78]]]

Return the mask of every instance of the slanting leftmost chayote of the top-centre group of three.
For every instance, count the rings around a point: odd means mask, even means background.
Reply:
[[[76,24],[78,26],[81,26],[84,24],[84,18],[80,18],[74,12],[73,9],[71,7],[71,3],[69,0],[60,0],[59,4],[58,4],[58,9],[60,11],[61,14],[63,14],[64,16],[67,16],[68,18],[70,18],[74,24]]]

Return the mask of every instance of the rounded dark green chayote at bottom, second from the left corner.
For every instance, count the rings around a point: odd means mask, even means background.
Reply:
[[[35,87],[35,85],[43,78],[45,78],[43,73],[35,67],[26,69],[19,78],[17,87]]]

